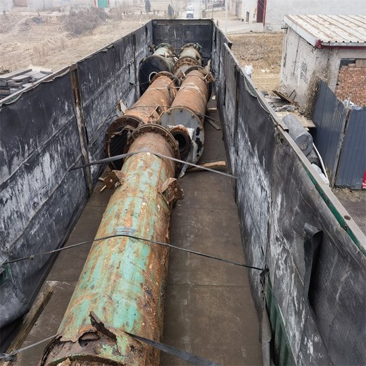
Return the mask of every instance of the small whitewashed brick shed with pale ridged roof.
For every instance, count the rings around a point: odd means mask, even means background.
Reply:
[[[333,92],[366,99],[366,15],[286,15],[284,23],[281,92],[305,113],[320,78]]]

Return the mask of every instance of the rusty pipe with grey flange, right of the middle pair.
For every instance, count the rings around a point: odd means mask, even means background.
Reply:
[[[172,106],[160,118],[161,125],[178,141],[182,159],[191,163],[199,160],[205,144],[203,121],[210,82],[212,76],[206,69],[189,71]]]

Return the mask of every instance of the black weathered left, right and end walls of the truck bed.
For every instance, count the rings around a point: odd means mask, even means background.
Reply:
[[[103,157],[115,103],[123,99],[130,107],[137,99],[139,62],[149,54],[146,45],[159,42],[198,42],[205,61],[212,58],[246,262],[270,270],[265,282],[294,360],[365,364],[365,236],[210,20],[153,20],[1,105],[1,262],[63,244],[101,171],[68,169]],[[0,284],[1,320],[7,321],[1,330],[21,315],[19,308],[24,313],[50,263],[41,256],[9,266],[11,276]],[[250,272],[261,313],[263,284],[257,270]]]

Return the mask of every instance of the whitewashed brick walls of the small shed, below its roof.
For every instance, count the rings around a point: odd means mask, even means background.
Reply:
[[[365,57],[365,51],[316,49],[291,28],[286,30],[282,51],[279,85],[282,92],[296,91],[295,101],[310,115],[317,81],[327,82],[334,92],[341,59]]]

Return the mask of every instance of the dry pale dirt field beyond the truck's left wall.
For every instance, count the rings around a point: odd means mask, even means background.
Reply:
[[[82,24],[87,31],[81,34],[75,34],[75,27],[65,21],[69,16],[65,13],[12,11],[1,15],[0,49],[4,51],[0,53],[0,70],[13,71],[28,65],[60,70],[130,33],[150,18],[146,14],[124,15],[118,11],[107,15],[108,18],[95,17],[89,22],[84,19]],[[99,26],[91,30],[90,23]]]

